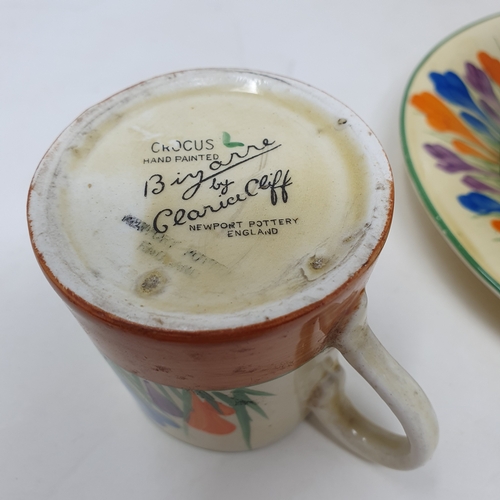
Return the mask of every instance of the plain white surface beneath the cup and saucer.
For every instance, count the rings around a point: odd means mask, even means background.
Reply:
[[[498,8],[497,0],[0,0],[0,498],[499,498],[500,299],[417,200],[398,123],[420,59]],[[369,317],[438,414],[440,444],[421,469],[364,462],[308,422],[247,453],[175,441],[140,413],[38,269],[25,200],[51,142],[118,90],[207,66],[319,87],[363,117],[386,148],[396,209],[369,284]],[[349,375],[359,407],[392,426]]]

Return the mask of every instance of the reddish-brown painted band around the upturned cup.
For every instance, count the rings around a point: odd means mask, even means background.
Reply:
[[[49,282],[111,361],[159,384],[223,390],[277,378],[333,345],[358,306],[384,240],[344,286],[320,302],[256,325],[198,332],[157,329],[111,315],[62,286],[36,247],[35,254]]]

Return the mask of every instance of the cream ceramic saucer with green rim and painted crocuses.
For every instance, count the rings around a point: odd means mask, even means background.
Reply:
[[[454,33],[407,86],[411,178],[452,247],[500,295],[500,16]]]

